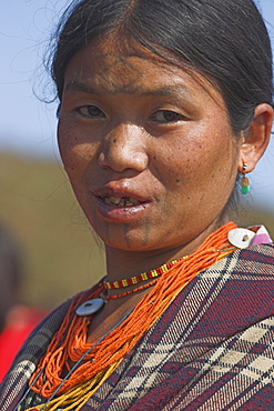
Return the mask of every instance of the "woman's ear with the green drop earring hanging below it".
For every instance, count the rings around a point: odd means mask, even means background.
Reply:
[[[243,171],[243,163],[246,163],[245,172],[255,169],[268,144],[272,122],[273,108],[266,103],[257,106],[248,131],[242,133],[239,172]]]

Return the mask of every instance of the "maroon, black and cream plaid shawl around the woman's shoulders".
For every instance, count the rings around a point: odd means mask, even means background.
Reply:
[[[201,272],[82,411],[273,410],[274,245],[237,250]],[[13,411],[69,302],[32,333],[0,389]]]

